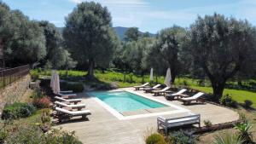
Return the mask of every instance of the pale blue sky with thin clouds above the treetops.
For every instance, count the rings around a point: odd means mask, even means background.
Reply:
[[[31,20],[49,20],[65,26],[65,17],[88,0],[2,0]],[[256,26],[256,0],[95,0],[108,7],[113,26],[136,26],[142,32],[159,32],[173,25],[189,27],[200,15],[224,14]]]

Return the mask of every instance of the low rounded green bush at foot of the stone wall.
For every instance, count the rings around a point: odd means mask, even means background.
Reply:
[[[3,107],[3,119],[26,118],[36,112],[36,108],[32,104],[15,102]]]

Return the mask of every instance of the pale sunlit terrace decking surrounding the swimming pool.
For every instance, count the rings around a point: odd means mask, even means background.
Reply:
[[[177,109],[190,110],[194,113],[201,114],[201,125],[203,125],[203,120],[209,119],[212,124],[221,124],[225,122],[230,122],[237,120],[239,118],[238,114],[228,108],[218,107],[212,104],[198,104],[183,106],[180,101],[166,101],[164,96],[152,96],[152,94],[145,94],[143,90],[134,91],[131,88],[125,88],[132,93],[137,95],[148,96],[160,101],[169,103],[177,107],[163,108],[163,112],[171,111],[171,113],[164,113],[166,118],[175,118],[180,116],[188,115],[188,112],[178,111]],[[90,109],[92,113],[88,116],[88,121],[73,121],[66,124],[60,124],[64,130],[76,131],[76,135],[79,137],[80,141],[87,144],[143,144],[144,135],[147,135],[148,131],[156,130],[156,118],[157,114],[151,117],[144,118],[131,118],[125,120],[119,120],[111,112],[109,112],[105,107],[96,101],[95,98],[86,95],[86,93],[80,94],[83,98],[83,103],[86,104],[86,109]],[[166,110],[168,109],[168,110]],[[175,111],[173,112],[172,111]],[[160,109],[147,111],[159,112]],[[126,112],[125,116],[130,117],[134,114],[145,114],[145,112]]]

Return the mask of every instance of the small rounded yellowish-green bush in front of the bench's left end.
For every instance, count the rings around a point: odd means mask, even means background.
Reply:
[[[183,130],[175,131],[168,136],[169,143],[173,144],[195,144],[193,135],[187,135]]]

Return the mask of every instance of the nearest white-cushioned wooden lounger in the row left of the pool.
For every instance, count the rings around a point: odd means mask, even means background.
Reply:
[[[83,111],[68,111],[66,109],[55,107],[55,115],[54,118],[57,118],[59,122],[63,120],[69,120],[70,118],[82,116],[82,118],[86,118],[87,115],[90,115],[90,110]]]

